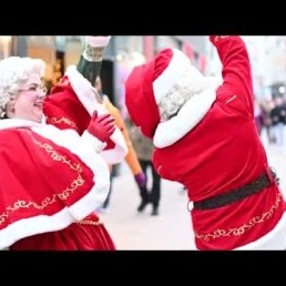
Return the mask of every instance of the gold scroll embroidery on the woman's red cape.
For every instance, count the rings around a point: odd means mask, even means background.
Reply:
[[[82,177],[82,166],[79,163],[72,163],[71,160],[67,160],[65,156],[60,155],[57,153],[55,150],[48,143],[41,143],[33,139],[33,142],[41,149],[44,149],[47,153],[51,156],[53,161],[62,162],[65,165],[69,165],[71,170],[73,170],[76,173],[76,177],[71,182],[70,186],[67,186],[65,190],[63,190],[61,193],[53,194],[52,196],[47,196],[40,204],[35,202],[27,202],[24,200],[18,200],[12,205],[7,206],[6,211],[0,215],[0,226],[6,222],[6,219],[9,217],[9,214],[17,212],[20,208],[37,208],[37,210],[44,210],[49,205],[61,201],[68,200],[68,197],[79,187],[84,184],[84,178]]]

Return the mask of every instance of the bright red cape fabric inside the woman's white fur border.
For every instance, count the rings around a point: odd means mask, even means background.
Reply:
[[[6,214],[0,229],[25,217],[53,215],[94,185],[92,171],[78,156],[29,129],[2,130],[0,141],[0,214]]]

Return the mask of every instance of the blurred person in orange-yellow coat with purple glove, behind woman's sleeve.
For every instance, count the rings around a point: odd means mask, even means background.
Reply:
[[[127,131],[125,122],[121,115],[121,112],[120,112],[119,108],[116,108],[110,101],[108,94],[103,93],[102,80],[100,76],[96,76],[94,88],[96,89],[98,93],[100,94],[101,100],[102,100],[103,104],[105,105],[106,110],[109,111],[109,113],[115,119],[115,125],[122,132],[122,134],[124,136],[124,140],[127,145],[127,154],[125,156],[125,162],[127,163],[127,166],[129,166],[130,171],[132,172],[137,186],[140,188],[142,188],[142,187],[144,187],[144,185],[146,183],[146,176],[145,176],[145,173],[142,171],[142,166],[137,160],[136,152],[134,150],[132,141],[130,140],[129,131]],[[115,170],[114,165],[110,164],[111,187],[110,187],[109,195],[102,205],[103,210],[105,210],[110,204],[111,193],[112,193],[112,187],[113,187],[112,181],[113,181],[113,177],[115,176],[114,170]],[[102,211],[102,210],[100,208],[99,211]]]

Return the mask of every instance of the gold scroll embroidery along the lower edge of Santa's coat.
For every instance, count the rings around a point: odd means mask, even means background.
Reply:
[[[208,234],[195,233],[195,237],[197,239],[210,242],[211,239],[216,239],[219,237],[242,235],[245,232],[253,228],[254,226],[256,226],[257,224],[264,223],[266,219],[269,219],[273,216],[274,212],[277,211],[280,202],[282,202],[282,194],[278,193],[276,201],[272,205],[270,210],[268,212],[263,213],[261,216],[253,217],[248,223],[245,223],[239,227],[234,227],[228,229],[216,229],[213,233],[208,233]]]

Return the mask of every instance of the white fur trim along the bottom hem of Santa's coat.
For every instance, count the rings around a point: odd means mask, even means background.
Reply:
[[[273,231],[256,242],[249,243],[235,251],[285,251],[286,249],[286,213]]]

